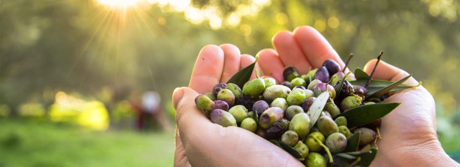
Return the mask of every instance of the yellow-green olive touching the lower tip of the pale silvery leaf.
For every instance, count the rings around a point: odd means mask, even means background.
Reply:
[[[289,130],[297,133],[300,138],[306,137],[310,132],[310,117],[306,113],[295,115],[289,124]]]

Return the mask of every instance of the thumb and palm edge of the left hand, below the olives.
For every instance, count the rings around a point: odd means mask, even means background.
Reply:
[[[194,166],[302,165],[281,148],[252,132],[238,127],[224,128],[211,123],[191,102],[197,94],[190,88],[176,89],[173,94],[179,137],[190,164]],[[180,100],[176,101],[178,99]],[[253,157],[260,161],[235,160],[242,156]]]

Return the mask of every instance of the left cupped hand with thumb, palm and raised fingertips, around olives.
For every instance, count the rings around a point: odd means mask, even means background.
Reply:
[[[195,105],[198,93],[212,92],[216,84],[226,82],[240,67],[254,61],[230,44],[201,49],[189,88],[177,88],[173,93],[177,111],[175,166],[303,166],[255,133],[212,123]],[[255,78],[254,73],[251,78]]]

